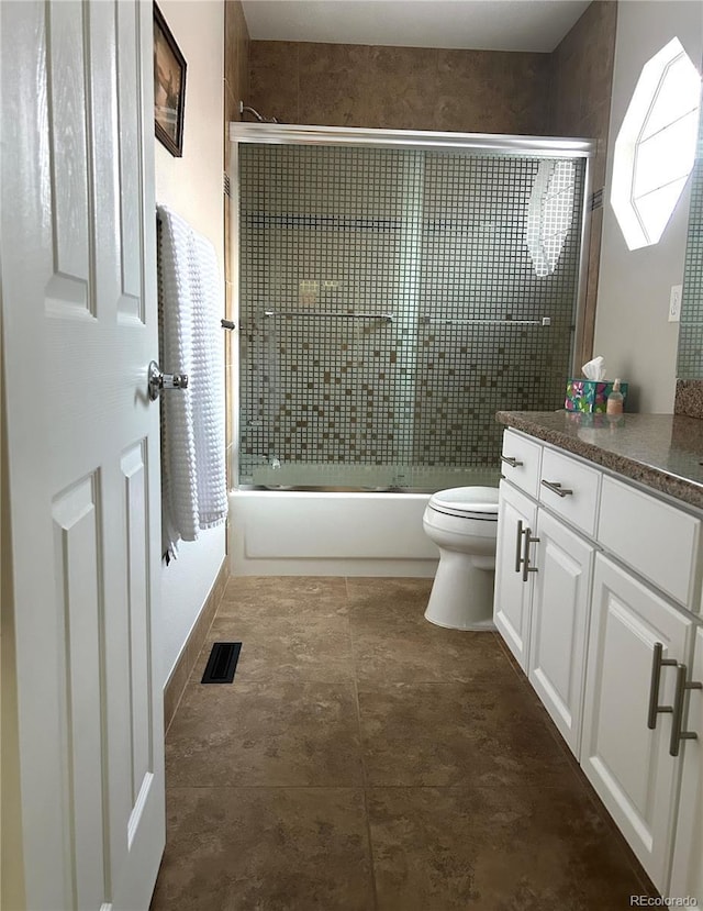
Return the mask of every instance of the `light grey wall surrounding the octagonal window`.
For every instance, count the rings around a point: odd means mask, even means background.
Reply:
[[[641,67],[674,35],[700,66],[702,13],[703,4],[676,0],[618,4],[606,199],[613,146]],[[594,349],[605,357],[610,378],[632,384],[631,410],[673,410],[679,324],[668,322],[668,305],[671,286],[683,278],[688,213],[687,189],[660,242],[629,251],[610,203],[604,207]]]

